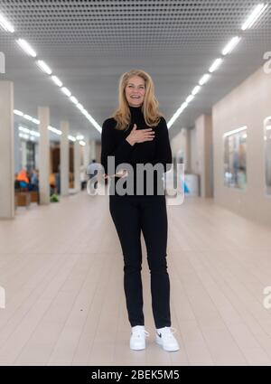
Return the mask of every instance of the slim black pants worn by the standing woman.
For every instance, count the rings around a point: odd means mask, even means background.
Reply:
[[[156,328],[171,326],[170,280],[167,273],[167,212],[164,196],[109,196],[109,210],[124,256],[124,289],[131,326],[144,325],[141,230],[151,273]]]

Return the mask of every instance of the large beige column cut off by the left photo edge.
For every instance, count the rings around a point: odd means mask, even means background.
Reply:
[[[14,83],[0,81],[0,219],[14,219]]]

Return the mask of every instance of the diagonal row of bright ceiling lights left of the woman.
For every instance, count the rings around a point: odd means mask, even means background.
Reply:
[[[3,14],[0,14],[0,26],[4,28],[6,32],[14,33],[14,26],[9,23]],[[19,38],[16,39],[16,42],[18,45],[22,48],[23,52],[25,52],[28,56],[31,56],[33,58],[37,58],[37,53],[33,50],[33,47],[29,44],[29,42],[26,42],[26,40]],[[46,64],[45,61],[37,60],[35,61],[36,65],[42,72],[49,75],[51,77],[51,80],[56,84],[62,91],[64,95],[66,95],[68,98],[70,98],[70,101],[79,109],[79,111],[87,117],[89,122],[95,126],[95,128],[98,130],[98,132],[101,132],[101,126],[98,125],[97,121],[89,114],[89,112],[79,103],[79,100],[72,96],[70,89],[63,86],[62,81],[55,75],[52,74],[51,68]],[[22,115],[20,115],[22,116]],[[27,116],[27,115],[26,115]],[[33,117],[32,117],[33,118]],[[37,119],[34,119],[38,121]],[[34,121],[33,121],[34,122]],[[39,124],[39,123],[38,123]]]

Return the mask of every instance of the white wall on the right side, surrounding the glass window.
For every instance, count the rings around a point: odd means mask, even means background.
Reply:
[[[264,119],[271,116],[271,74],[261,67],[212,108],[215,202],[259,223],[271,224],[271,198],[265,192]],[[248,126],[245,192],[224,186],[223,134]]]

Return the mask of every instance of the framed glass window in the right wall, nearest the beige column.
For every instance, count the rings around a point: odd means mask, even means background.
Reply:
[[[245,190],[247,186],[247,126],[227,132],[224,138],[224,185]]]

